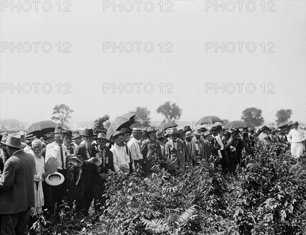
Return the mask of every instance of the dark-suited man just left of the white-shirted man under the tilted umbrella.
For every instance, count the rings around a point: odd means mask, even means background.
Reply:
[[[94,210],[98,214],[103,210],[103,207],[106,206],[106,200],[103,198],[105,194],[105,183],[106,178],[104,174],[107,174],[109,171],[115,172],[114,169],[114,159],[113,153],[109,149],[105,148],[105,144],[108,142],[106,134],[100,132],[95,138],[98,146],[96,147],[96,152],[101,159],[101,165],[95,166],[93,171],[93,182],[94,182]],[[101,174],[103,174],[101,176]]]

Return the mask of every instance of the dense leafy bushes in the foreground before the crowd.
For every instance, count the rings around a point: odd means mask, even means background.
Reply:
[[[168,162],[171,174],[160,169],[163,162],[156,162],[146,178],[140,170],[109,173],[103,176],[107,179],[103,213],[81,220],[63,210],[61,222],[55,217],[45,219],[49,222],[40,222],[40,230],[48,227],[66,232],[62,234],[306,235],[305,157],[295,160],[285,150],[276,156],[276,148],[254,147],[251,155],[243,155],[235,176],[224,175],[216,159],[202,160],[184,170]],[[57,225],[51,226],[54,222]]]

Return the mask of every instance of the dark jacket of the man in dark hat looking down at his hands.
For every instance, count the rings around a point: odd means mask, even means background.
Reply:
[[[91,156],[90,157],[95,157],[96,155],[96,150],[93,146],[91,146]],[[84,161],[83,163],[83,178],[84,178],[84,187],[85,190],[89,189],[92,186],[92,182],[93,182],[93,172],[94,172],[94,168],[95,165],[93,163],[89,163],[88,162],[88,156],[86,154],[86,147],[85,144],[79,145],[77,147],[77,149],[75,150],[75,155],[81,155],[81,157],[83,158],[82,160]],[[80,158],[81,159],[81,158]],[[81,160],[81,161],[82,161]]]

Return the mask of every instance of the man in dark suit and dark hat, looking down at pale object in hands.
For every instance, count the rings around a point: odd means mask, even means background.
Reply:
[[[92,146],[95,134],[93,129],[85,129],[83,136],[85,143],[78,146],[75,150],[75,155],[82,159],[83,162],[83,179],[84,179],[84,194],[78,195],[75,204],[77,210],[84,210],[84,214],[88,216],[88,209],[93,200],[93,172],[94,162],[96,161],[96,150]]]

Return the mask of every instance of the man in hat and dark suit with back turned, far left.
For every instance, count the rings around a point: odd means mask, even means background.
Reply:
[[[9,134],[5,142],[10,158],[0,178],[0,234],[28,234],[31,207],[35,207],[34,156],[23,151],[25,143],[19,134]]]

